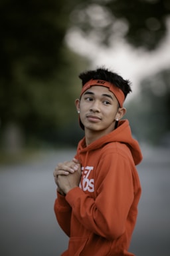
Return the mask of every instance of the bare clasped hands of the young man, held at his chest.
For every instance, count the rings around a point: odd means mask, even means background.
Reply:
[[[81,166],[77,159],[58,163],[54,170],[54,181],[58,192],[66,195],[70,189],[78,187],[81,179]]]

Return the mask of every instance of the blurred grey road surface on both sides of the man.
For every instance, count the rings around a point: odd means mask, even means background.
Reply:
[[[68,239],[53,205],[56,163],[74,150],[48,152],[31,163],[0,166],[0,254],[59,256]],[[143,148],[138,172],[143,193],[130,251],[136,256],[170,255],[170,149]]]

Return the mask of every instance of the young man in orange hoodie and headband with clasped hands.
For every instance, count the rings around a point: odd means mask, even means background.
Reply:
[[[54,171],[54,211],[70,237],[62,256],[133,255],[128,247],[141,195],[135,165],[142,156],[128,120],[120,121],[129,81],[104,68],[79,77],[75,103],[85,137],[74,159]]]

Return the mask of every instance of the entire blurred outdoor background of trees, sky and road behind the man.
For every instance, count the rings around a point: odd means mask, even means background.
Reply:
[[[66,248],[52,172],[83,136],[78,75],[99,66],[132,84],[126,118],[144,156],[132,250],[169,255],[169,0],[1,0],[0,21],[1,255]]]

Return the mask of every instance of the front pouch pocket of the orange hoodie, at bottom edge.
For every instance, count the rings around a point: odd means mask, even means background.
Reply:
[[[69,240],[68,244],[68,255],[69,256],[79,256],[82,250],[84,249],[88,238],[79,238],[79,237],[72,237]]]

